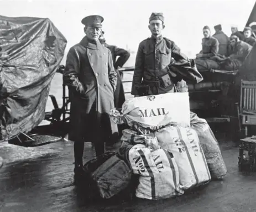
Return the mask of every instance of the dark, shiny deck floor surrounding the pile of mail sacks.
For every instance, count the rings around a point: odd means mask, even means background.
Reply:
[[[219,139],[220,140],[220,139]],[[0,143],[0,211],[256,211],[256,174],[238,171],[238,148],[221,139],[228,173],[200,190],[165,200],[109,201],[85,199],[74,185],[73,144],[61,141],[36,148]],[[90,144],[84,161],[93,157]],[[86,191],[85,191],[86,192]]]

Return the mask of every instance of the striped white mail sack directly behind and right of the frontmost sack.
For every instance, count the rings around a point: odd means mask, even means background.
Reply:
[[[168,126],[155,132],[161,148],[171,151],[179,168],[180,186],[188,189],[211,180],[205,155],[194,129]]]

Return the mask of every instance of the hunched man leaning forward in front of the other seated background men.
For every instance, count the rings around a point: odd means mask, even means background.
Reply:
[[[219,62],[225,70],[237,70],[242,66],[250,50],[252,50],[252,46],[244,41],[240,41],[236,35],[230,37],[230,45],[233,53],[229,57],[219,58]]]

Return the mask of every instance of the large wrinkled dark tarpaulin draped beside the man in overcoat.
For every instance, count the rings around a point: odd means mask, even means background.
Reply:
[[[48,18],[0,16],[2,140],[27,133],[43,121],[50,83],[66,43]]]

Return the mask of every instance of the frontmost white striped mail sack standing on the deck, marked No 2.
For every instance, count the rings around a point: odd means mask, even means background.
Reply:
[[[136,197],[165,199],[184,193],[180,189],[176,162],[168,151],[137,144],[129,150],[129,161],[133,173],[140,175]]]

